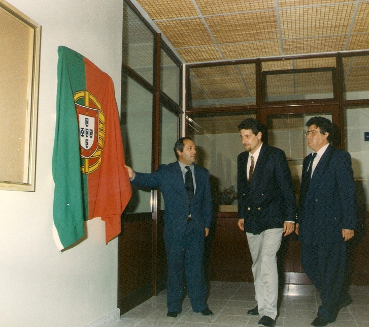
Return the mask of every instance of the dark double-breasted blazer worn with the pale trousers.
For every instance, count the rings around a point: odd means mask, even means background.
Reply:
[[[295,221],[296,199],[284,152],[263,143],[250,185],[248,158],[245,151],[237,159],[238,211],[239,218],[244,219],[245,231],[259,234],[283,227],[284,221]]]

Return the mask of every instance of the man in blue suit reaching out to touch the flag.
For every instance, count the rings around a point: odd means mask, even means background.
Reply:
[[[183,273],[192,310],[213,315],[206,304],[203,269],[205,237],[209,234],[212,218],[209,171],[194,164],[196,145],[191,138],[180,138],[174,153],[178,161],[160,165],[153,173],[126,168],[131,183],[160,188],[164,198],[167,316],[175,318],[182,311]]]

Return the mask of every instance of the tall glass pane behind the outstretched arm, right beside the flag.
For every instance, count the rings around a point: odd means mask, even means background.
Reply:
[[[136,81],[122,76],[121,130],[128,166],[151,172],[153,95]],[[151,212],[151,191],[132,185],[132,197],[125,212]]]

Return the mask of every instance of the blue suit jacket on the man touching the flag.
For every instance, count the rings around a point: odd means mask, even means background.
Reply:
[[[196,229],[205,233],[205,228],[210,228],[212,200],[209,170],[194,164],[194,175],[196,190],[191,202],[187,197],[178,161],[168,165],[160,165],[152,173],[136,172],[135,179],[132,180],[132,184],[142,187],[160,188],[165,205],[164,237],[171,235],[176,240],[182,239],[189,213]]]

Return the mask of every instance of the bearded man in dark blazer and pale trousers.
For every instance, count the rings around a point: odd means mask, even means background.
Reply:
[[[238,156],[238,226],[246,232],[252,257],[258,326],[273,327],[277,316],[276,254],[282,234],[293,232],[296,199],[286,156],[262,142],[262,125],[248,118],[238,126],[245,152]]]

